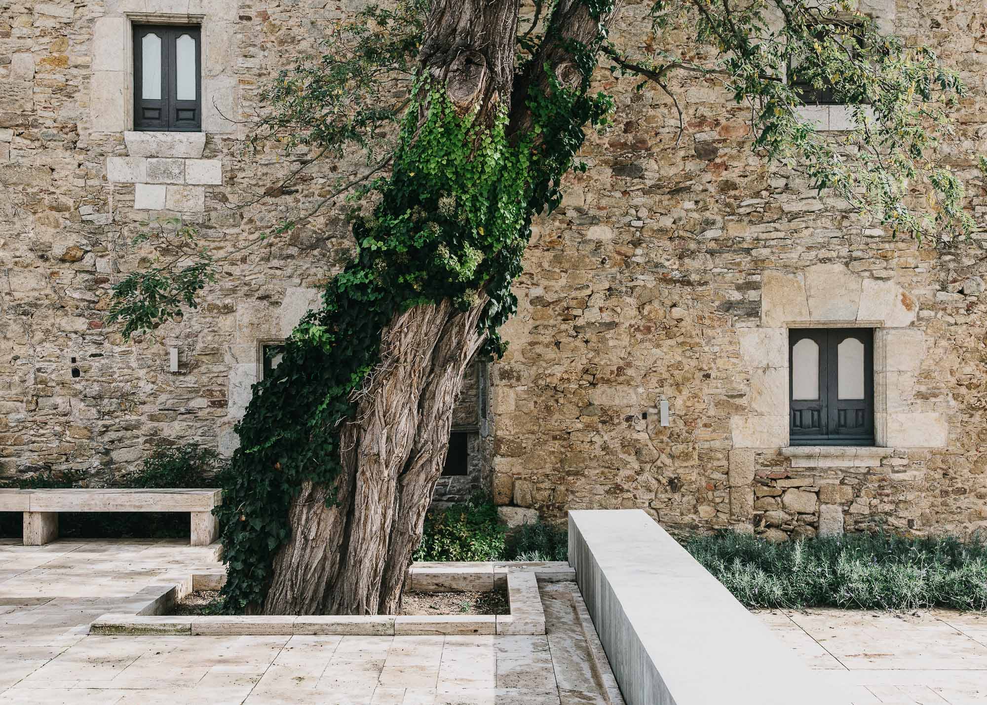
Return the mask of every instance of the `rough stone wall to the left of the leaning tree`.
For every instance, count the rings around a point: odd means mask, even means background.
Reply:
[[[73,468],[101,483],[157,443],[197,440],[230,452],[258,378],[259,343],[283,339],[352,253],[345,222],[330,210],[229,257],[203,305],[180,323],[132,342],[107,328],[111,286],[152,262],[151,248],[132,241],[155,231],[156,220],[181,219],[217,257],[229,256],[360,167],[326,163],[289,194],[234,207],[275,186],[304,156],[286,160],[265,142],[247,150],[246,125],[234,120],[256,113],[264,82],[294,51],[315,51],[323,23],[342,10],[236,0],[152,5],[0,2],[6,474]],[[125,132],[129,26],[182,21],[203,26],[204,140],[183,147],[171,133],[149,144],[148,133]],[[170,348],[179,350],[178,373],[169,371]]]

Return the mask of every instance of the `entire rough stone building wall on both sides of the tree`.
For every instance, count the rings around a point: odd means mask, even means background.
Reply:
[[[196,227],[222,256],[361,173],[355,157],[320,164],[243,205],[303,156],[248,148],[265,82],[318,51],[327,23],[351,9],[0,0],[0,473],[81,470],[101,485],[158,443],[236,447],[264,346],[353,253],[342,204],[226,261],[200,308],[132,342],[104,322],[110,287],[153,261],[133,238],[173,226],[163,220]],[[640,41],[646,9],[625,3],[613,39]],[[969,86],[945,156],[982,222],[982,3],[862,9],[931,43]],[[201,133],[132,131],[135,24],[200,26]],[[617,98],[616,122],[588,136],[589,169],[536,222],[508,353],[489,380],[477,370],[457,412],[470,471],[444,478],[441,497],[487,487],[515,513],[642,508],[672,529],[778,540],[983,525],[987,238],[893,238],[809,192],[751,154],[747,109],[713,78],[673,81],[680,140],[660,91],[635,92],[604,69],[598,81]],[[841,107],[814,111],[828,129],[847,124]],[[789,330],[834,326],[874,331],[876,446],[790,446]]]

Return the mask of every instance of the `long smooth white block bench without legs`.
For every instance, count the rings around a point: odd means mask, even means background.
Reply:
[[[569,511],[569,565],[628,705],[848,705],[641,509]]]

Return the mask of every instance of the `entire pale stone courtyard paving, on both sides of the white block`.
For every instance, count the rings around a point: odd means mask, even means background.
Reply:
[[[215,566],[213,548],[174,541],[0,540],[0,703],[606,703],[571,584],[542,588],[541,637],[87,636],[139,589]],[[987,704],[987,616],[759,617],[855,705]]]

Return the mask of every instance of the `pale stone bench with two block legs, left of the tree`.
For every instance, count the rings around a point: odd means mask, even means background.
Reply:
[[[191,545],[207,546],[219,537],[212,508],[222,490],[0,490],[0,511],[24,512],[24,545],[42,546],[58,538],[59,511],[189,511]]]

